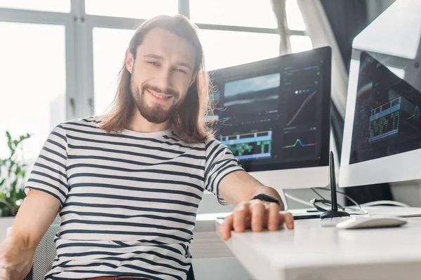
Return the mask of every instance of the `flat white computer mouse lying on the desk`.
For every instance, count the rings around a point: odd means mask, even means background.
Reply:
[[[354,230],[360,228],[391,228],[408,223],[403,218],[396,216],[364,215],[354,216],[336,225],[336,228]]]

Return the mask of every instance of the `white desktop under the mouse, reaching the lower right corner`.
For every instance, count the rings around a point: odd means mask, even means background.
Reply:
[[[421,277],[421,218],[408,218],[402,228],[372,230],[323,228],[319,219],[300,220],[295,230],[232,232],[225,243],[255,280]]]

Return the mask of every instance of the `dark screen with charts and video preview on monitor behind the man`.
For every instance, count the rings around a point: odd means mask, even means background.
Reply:
[[[291,58],[285,64],[268,59],[227,69],[214,80],[213,102],[218,99],[222,108],[214,116],[218,139],[243,165],[321,158],[323,116],[329,122],[330,112],[330,87],[323,93],[323,63],[320,56]],[[326,127],[324,131],[328,133]]]

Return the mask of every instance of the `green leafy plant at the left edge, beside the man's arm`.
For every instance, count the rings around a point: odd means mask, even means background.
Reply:
[[[26,134],[13,139],[6,131],[6,137],[10,156],[5,159],[0,158],[0,210],[1,216],[15,216],[25,198],[23,185],[27,165],[23,160],[21,144],[31,135]]]

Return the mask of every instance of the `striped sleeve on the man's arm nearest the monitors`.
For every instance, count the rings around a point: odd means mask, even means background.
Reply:
[[[228,203],[218,194],[222,179],[228,174],[244,170],[227,146],[216,139],[206,141],[205,189],[213,193],[222,205]]]

